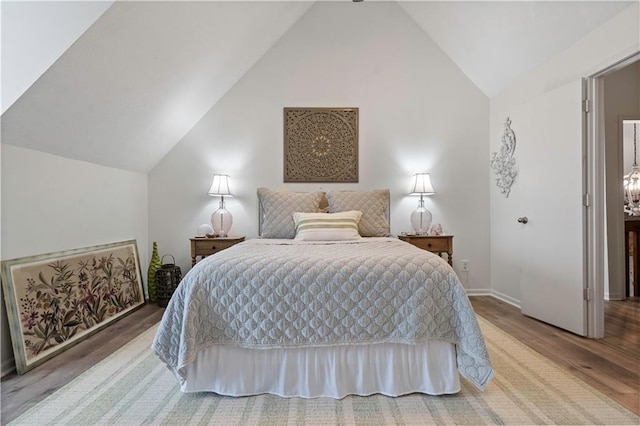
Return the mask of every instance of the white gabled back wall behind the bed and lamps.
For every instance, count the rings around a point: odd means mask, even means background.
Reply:
[[[391,230],[410,230],[412,174],[431,173],[426,201],[454,237],[454,267],[488,289],[488,99],[394,2],[318,2],[149,174],[149,236],[190,268],[188,238],[218,199],[212,173],[231,176],[232,234],[256,237],[256,188],[283,187],[283,107],[358,107],[358,184],[390,188]]]

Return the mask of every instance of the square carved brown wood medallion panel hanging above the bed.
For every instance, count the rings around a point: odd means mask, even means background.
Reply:
[[[358,182],[358,108],[285,108],[284,182]]]

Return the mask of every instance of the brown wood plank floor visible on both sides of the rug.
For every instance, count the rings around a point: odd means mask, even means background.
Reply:
[[[520,314],[493,297],[472,297],[475,311],[580,380],[640,415],[640,298],[605,303],[605,338],[584,339]],[[43,365],[2,378],[2,425],[157,323],[163,309],[146,305]]]

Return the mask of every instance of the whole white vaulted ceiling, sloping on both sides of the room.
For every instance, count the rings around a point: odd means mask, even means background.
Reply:
[[[301,16],[331,7],[323,0],[117,1],[80,12],[69,2],[20,3],[1,3],[2,86],[14,93],[3,96],[2,142],[142,173]],[[634,2],[397,3],[492,97]],[[56,6],[72,11],[70,20],[50,14],[52,22],[38,24],[33,17],[43,13],[20,14]],[[37,50],[24,33],[10,32],[25,25],[47,30]],[[57,45],[49,46],[47,32]],[[5,52],[41,61],[7,62]]]

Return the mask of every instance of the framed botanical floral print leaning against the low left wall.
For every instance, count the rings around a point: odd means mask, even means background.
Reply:
[[[146,303],[136,240],[3,260],[2,289],[18,374]]]

